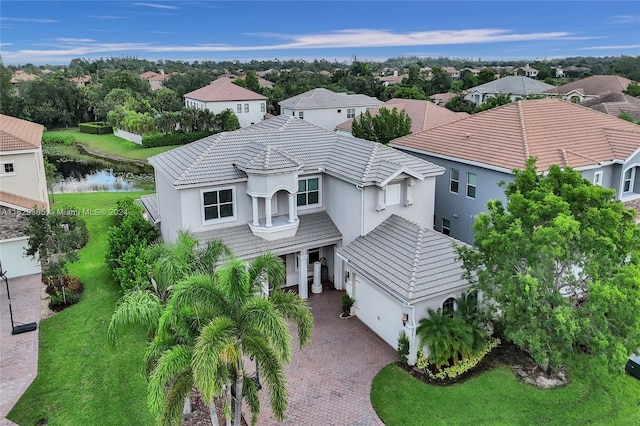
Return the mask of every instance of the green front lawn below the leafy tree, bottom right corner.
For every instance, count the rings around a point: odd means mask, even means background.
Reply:
[[[395,425],[640,425],[640,381],[582,357],[570,384],[538,390],[501,367],[449,387],[427,385],[396,365],[373,381],[371,402]]]

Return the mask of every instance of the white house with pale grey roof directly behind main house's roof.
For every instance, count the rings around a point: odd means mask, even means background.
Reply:
[[[347,95],[327,89],[313,89],[278,102],[280,114],[302,118],[309,123],[333,130],[382,101],[367,95]]]

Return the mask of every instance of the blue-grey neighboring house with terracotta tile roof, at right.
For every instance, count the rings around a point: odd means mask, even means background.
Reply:
[[[491,199],[505,200],[501,181],[528,157],[539,171],[570,166],[618,199],[640,198],[640,128],[557,99],[517,101],[391,141],[391,146],[444,168],[436,186],[435,227],[473,241],[473,223]]]

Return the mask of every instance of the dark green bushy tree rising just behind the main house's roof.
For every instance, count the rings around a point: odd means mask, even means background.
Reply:
[[[369,111],[360,114],[351,123],[353,136],[381,144],[411,133],[411,117],[404,111],[393,107],[389,111],[381,107],[374,116]]]

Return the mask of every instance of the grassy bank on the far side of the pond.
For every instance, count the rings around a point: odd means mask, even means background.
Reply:
[[[176,147],[160,146],[156,148],[144,148],[142,145],[120,139],[113,134],[93,135],[90,133],[81,133],[79,129],[53,130],[46,133],[54,132],[56,135],[73,136],[76,142],[81,143],[90,151],[130,160],[146,160],[152,155],[156,155]]]

